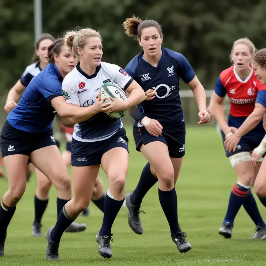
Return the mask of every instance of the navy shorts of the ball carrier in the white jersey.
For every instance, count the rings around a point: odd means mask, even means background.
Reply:
[[[128,151],[128,138],[126,130],[121,128],[109,139],[95,142],[81,142],[72,139],[71,142],[71,165],[90,166],[101,164],[104,153],[115,147],[122,147]]]

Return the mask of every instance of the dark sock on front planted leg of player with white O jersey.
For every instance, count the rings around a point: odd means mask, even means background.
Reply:
[[[171,234],[175,235],[182,230],[178,224],[177,218],[177,196],[176,189],[163,191],[158,189],[159,201],[164,211],[165,217],[169,223]]]

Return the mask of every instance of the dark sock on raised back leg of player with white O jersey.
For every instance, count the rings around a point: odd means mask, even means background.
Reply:
[[[131,204],[140,206],[144,196],[147,194],[149,189],[151,189],[153,185],[156,184],[157,181],[158,179],[153,176],[151,172],[150,163],[147,163],[142,170],[138,185],[130,196]]]

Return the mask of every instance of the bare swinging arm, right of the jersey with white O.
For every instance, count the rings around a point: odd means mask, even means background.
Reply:
[[[195,76],[193,80],[188,83],[188,86],[192,90],[198,105],[198,116],[200,118],[199,124],[210,122],[211,116],[206,110],[206,93],[197,76]]]

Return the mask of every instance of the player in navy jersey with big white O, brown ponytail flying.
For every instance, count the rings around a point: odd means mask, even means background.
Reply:
[[[200,124],[209,122],[203,86],[188,60],[180,53],[161,47],[161,26],[154,20],[133,17],[124,23],[127,35],[136,36],[143,52],[135,56],[125,71],[146,93],[138,110],[130,111],[135,119],[133,136],[136,150],[148,160],[136,189],[126,196],[128,223],[136,234],[142,234],[140,204],[148,190],[158,181],[158,196],[169,223],[171,237],[182,253],[191,249],[178,224],[177,195],[174,185],[185,154],[185,122],[179,95],[182,78],[192,89],[198,107]]]

